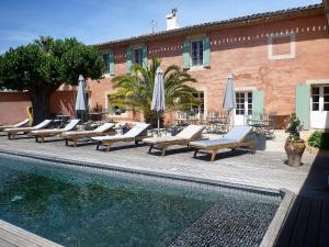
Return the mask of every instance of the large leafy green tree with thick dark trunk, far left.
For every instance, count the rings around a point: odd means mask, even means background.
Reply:
[[[79,75],[100,79],[105,67],[98,50],[76,38],[42,36],[26,46],[10,48],[0,57],[0,87],[27,90],[34,124],[49,115],[49,98],[66,82],[77,85]]]

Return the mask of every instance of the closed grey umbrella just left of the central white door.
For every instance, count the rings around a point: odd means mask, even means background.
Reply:
[[[237,108],[237,103],[236,103],[235,83],[232,80],[232,75],[229,75],[227,78],[226,88],[224,92],[223,109],[228,112],[230,126],[234,126],[234,110],[236,108]]]

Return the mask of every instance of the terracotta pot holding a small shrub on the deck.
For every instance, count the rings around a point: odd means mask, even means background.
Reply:
[[[302,156],[305,150],[305,142],[300,141],[286,141],[284,145],[285,153],[287,155],[287,164],[291,167],[300,166]]]

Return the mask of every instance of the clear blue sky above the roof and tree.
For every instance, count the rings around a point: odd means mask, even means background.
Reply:
[[[177,8],[180,26],[275,11],[321,0],[0,0],[0,54],[41,35],[97,44],[166,30]]]

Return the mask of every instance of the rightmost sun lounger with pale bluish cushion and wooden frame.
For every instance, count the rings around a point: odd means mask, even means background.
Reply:
[[[249,147],[251,153],[254,153],[254,141],[246,141],[246,136],[251,132],[250,126],[235,126],[223,138],[191,142],[191,147],[195,148],[194,157],[198,150],[204,150],[212,154],[212,161],[215,160],[219,149],[237,147]]]

